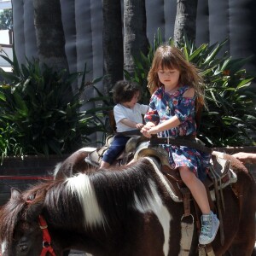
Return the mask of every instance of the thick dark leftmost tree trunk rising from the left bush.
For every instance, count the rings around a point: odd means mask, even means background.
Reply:
[[[33,0],[33,6],[40,63],[68,70],[60,1]]]

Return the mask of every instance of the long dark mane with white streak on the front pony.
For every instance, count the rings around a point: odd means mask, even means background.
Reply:
[[[1,241],[11,241],[15,225],[26,218],[29,207],[41,205],[28,221],[42,213],[48,224],[76,230],[125,223],[131,211],[147,208],[155,200],[154,167],[148,160],[113,170],[79,173],[74,177],[39,183],[10,199],[0,217]],[[31,200],[31,201],[30,201]],[[151,206],[150,205],[150,206]],[[61,213],[60,213],[61,212]]]

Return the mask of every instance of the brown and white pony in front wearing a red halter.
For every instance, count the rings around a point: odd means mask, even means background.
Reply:
[[[86,173],[80,173],[84,167],[79,167],[79,173],[66,177],[76,172],[75,164],[84,164],[82,151],[73,154],[75,161],[69,158],[59,166],[64,175],[55,181],[23,193],[13,190],[0,212],[3,256],[59,256],[71,248],[95,256],[198,255],[196,228],[189,250],[183,246],[188,238],[181,228],[183,203],[172,201],[172,190],[157,160],[146,157],[129,166]],[[251,256],[253,252],[255,183],[244,170],[238,168],[236,174],[234,188],[224,189],[224,244],[218,232],[212,242],[216,256]],[[191,213],[195,216],[193,205]],[[39,216],[44,224],[38,224]],[[46,224],[47,236],[41,229]]]

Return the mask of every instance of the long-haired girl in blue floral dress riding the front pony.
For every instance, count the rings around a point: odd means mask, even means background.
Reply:
[[[148,73],[148,88],[152,94],[145,115],[145,137],[194,137],[196,135],[195,99],[204,104],[200,88],[202,79],[198,70],[176,47],[161,45],[154,54]],[[201,208],[199,242],[214,240],[219,226],[218,218],[210,210],[207,191],[201,182],[206,177],[210,155],[186,146],[162,145],[169,154],[172,168],[178,168],[183,183],[190,189]]]

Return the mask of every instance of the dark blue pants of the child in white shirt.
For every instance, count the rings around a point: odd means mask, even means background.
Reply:
[[[104,153],[102,160],[108,164],[112,164],[119,154],[125,149],[125,145],[131,137],[115,136],[108,150]]]

